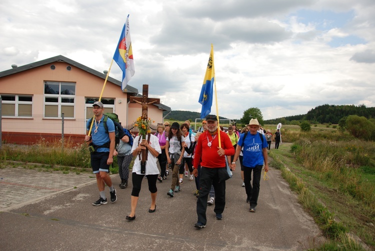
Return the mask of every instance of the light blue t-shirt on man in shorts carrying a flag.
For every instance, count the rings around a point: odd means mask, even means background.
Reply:
[[[96,146],[101,146],[101,145],[104,145],[107,142],[110,142],[109,135],[108,135],[108,133],[105,132],[103,120],[104,120],[104,115],[101,117],[99,123],[96,122],[96,125],[95,125],[95,120],[94,120],[93,125],[92,125],[91,139],[92,139],[92,144],[94,144]],[[107,123],[108,132],[114,132],[113,121],[110,118],[108,118],[106,123]],[[88,120],[87,123],[86,123],[87,131],[90,130],[90,126],[91,126],[91,123],[90,123],[90,120]],[[97,129],[96,129],[96,127],[97,127]],[[95,133],[95,129],[97,130],[96,133]],[[98,152],[98,153],[99,152],[109,152],[109,148],[102,148],[101,147],[101,148],[96,149],[96,152]]]

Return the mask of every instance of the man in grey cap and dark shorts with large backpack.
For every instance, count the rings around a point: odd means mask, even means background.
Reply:
[[[96,184],[99,189],[100,197],[93,202],[93,206],[100,206],[107,204],[107,199],[104,191],[104,183],[109,187],[110,202],[117,200],[116,190],[112,186],[110,179],[109,165],[113,163],[113,151],[115,145],[114,124],[113,121],[104,116],[104,106],[100,101],[96,101],[92,105],[94,121],[91,135],[88,132],[91,127],[92,120],[86,123],[85,141],[90,142],[89,150],[91,157],[92,172],[96,176]],[[103,122],[106,120],[105,123]],[[104,127],[105,124],[105,127]]]

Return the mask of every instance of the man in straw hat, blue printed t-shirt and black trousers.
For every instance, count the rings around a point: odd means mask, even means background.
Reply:
[[[239,137],[233,162],[230,167],[235,168],[235,162],[238,159],[239,153],[243,147],[243,181],[245,183],[245,190],[247,199],[250,203],[250,212],[255,212],[257,205],[260,187],[261,169],[264,163],[264,171],[268,172],[268,157],[267,157],[267,141],[264,135],[257,132],[259,129],[259,122],[257,119],[251,119],[247,125],[249,132],[242,133]],[[262,138],[261,138],[262,137]],[[251,186],[251,172],[252,186]]]

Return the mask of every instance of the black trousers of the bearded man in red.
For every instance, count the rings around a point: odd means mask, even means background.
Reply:
[[[220,167],[225,168],[225,167]],[[207,168],[200,169],[199,178],[199,197],[196,201],[196,214],[198,215],[198,222],[207,223],[205,212],[207,210],[207,199],[211,185],[215,190],[215,214],[222,214],[225,207],[225,181],[218,182],[218,169],[220,168]],[[226,171],[225,171],[226,172]]]

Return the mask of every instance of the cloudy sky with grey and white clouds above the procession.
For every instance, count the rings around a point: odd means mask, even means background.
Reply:
[[[129,14],[128,84],[172,110],[200,112],[211,44],[222,117],[374,107],[374,13],[374,0],[1,0],[0,71],[56,55],[108,70]]]

